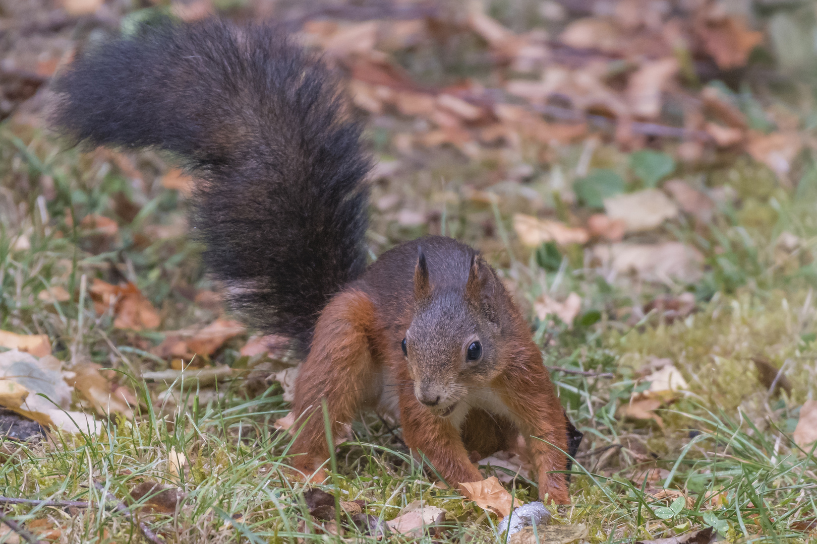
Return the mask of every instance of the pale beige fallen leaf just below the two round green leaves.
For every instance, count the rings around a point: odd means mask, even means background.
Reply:
[[[661,226],[668,219],[675,219],[679,210],[675,202],[658,189],[644,189],[604,200],[605,211],[610,219],[621,219],[627,232],[644,232]]]

